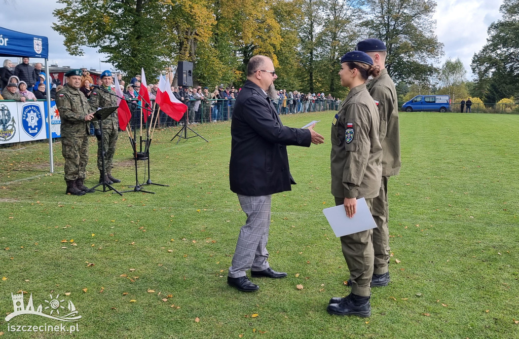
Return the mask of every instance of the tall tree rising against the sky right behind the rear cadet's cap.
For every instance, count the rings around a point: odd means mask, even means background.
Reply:
[[[414,82],[435,74],[443,44],[434,34],[433,0],[366,0],[366,35],[386,43],[386,68],[395,81]]]

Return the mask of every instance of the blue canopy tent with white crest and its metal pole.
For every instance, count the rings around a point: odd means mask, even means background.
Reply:
[[[0,27],[0,57],[29,57],[45,59],[45,74],[49,74],[49,39],[46,36],[26,34],[11,31]],[[51,126],[50,114],[50,81],[47,84],[47,120]],[[50,172],[54,172],[54,159],[52,154],[52,133],[49,131],[49,155]]]

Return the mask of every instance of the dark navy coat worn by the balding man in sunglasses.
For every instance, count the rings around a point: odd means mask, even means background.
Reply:
[[[295,181],[286,145],[309,147],[310,131],[283,126],[274,104],[253,82],[245,82],[236,99],[230,134],[231,191],[260,196],[291,190]]]

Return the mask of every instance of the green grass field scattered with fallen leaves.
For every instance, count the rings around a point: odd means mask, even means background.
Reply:
[[[334,114],[282,117],[295,127],[321,119],[326,143],[288,147],[298,184],[272,198],[267,248],[289,276],[252,279],[256,293],[226,285],[245,221],[229,191],[230,123],[197,126],[209,143],[176,145],[176,130],[157,131],[152,180],[171,186],[147,186],[155,195],[67,196],[60,143],[53,175],[45,143],[0,151],[0,334],[70,336],[8,332],[11,292],[23,290],[35,307],[71,293],[64,300],[82,316],[81,338],[519,337],[519,116],[401,113],[403,166],[389,181],[391,283],[373,290],[372,316],[361,319],[326,313],[331,296],[349,293],[340,242],[321,212],[333,206]],[[93,141],[87,186],[99,178]],[[122,133],[115,158],[114,174],[134,183]],[[44,323],[59,321],[10,321]]]

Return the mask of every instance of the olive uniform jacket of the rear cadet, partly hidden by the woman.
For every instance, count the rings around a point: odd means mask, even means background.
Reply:
[[[371,81],[368,90],[378,106],[380,115],[378,139],[382,146],[382,175],[384,177],[398,175],[402,162],[397,89],[388,71],[384,69]]]

